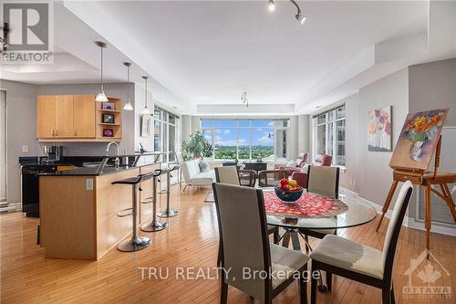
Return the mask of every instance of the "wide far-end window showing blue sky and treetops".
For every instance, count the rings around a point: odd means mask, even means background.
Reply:
[[[203,119],[202,134],[215,160],[286,158],[288,120]]]

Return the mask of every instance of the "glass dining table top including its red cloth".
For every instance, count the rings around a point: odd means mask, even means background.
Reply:
[[[299,201],[289,204],[277,198],[274,188],[264,188],[263,191],[268,225],[292,229],[337,229],[367,224],[377,215],[372,205],[344,194],[339,194],[337,200],[323,194],[304,193]],[[314,205],[321,208],[305,210]]]

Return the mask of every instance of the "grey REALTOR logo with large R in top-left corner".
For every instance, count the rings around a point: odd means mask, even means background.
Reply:
[[[3,63],[52,63],[52,5],[47,2],[5,2],[3,22],[9,24]]]

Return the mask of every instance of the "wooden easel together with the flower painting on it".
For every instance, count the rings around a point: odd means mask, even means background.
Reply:
[[[383,205],[377,230],[389,209],[399,182],[410,181],[424,189],[426,248],[430,250],[430,194],[440,197],[449,207],[456,222],[456,204],[448,186],[456,183],[456,173],[438,173],[440,166],[441,129],[450,109],[427,110],[407,116],[389,166],[393,169],[393,182]],[[434,155],[433,173],[427,172]],[[440,187],[440,190],[437,189]],[[429,257],[429,255],[428,255]]]

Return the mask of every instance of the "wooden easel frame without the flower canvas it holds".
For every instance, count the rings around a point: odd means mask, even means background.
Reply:
[[[383,217],[388,211],[391,199],[396,191],[399,182],[410,181],[413,184],[418,184],[424,187],[424,206],[426,211],[425,228],[426,228],[426,248],[430,250],[430,193],[439,196],[448,205],[451,211],[454,222],[456,222],[456,206],[451,197],[451,191],[448,188],[448,183],[456,183],[456,173],[437,173],[440,165],[440,148],[441,148],[441,135],[435,152],[434,172],[426,172],[424,170],[410,170],[404,168],[391,167],[393,171],[393,183],[389,188],[387,200],[383,205],[382,214],[378,221],[377,231],[383,221]],[[433,184],[439,184],[441,193],[432,187]]]

